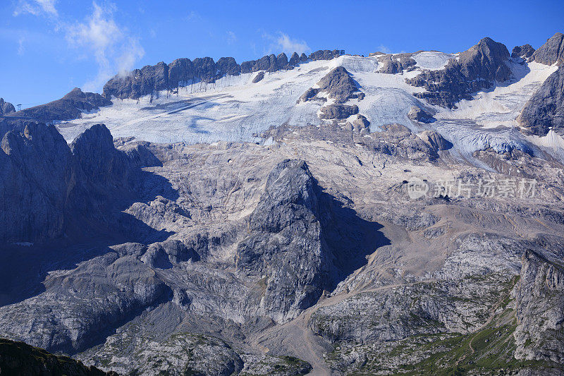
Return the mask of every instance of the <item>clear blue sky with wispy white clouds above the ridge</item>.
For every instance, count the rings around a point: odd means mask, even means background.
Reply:
[[[1,0],[0,15],[0,97],[23,107],[178,57],[454,52],[486,36],[511,50],[564,32],[562,0]]]

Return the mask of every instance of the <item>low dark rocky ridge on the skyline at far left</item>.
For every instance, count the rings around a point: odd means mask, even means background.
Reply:
[[[82,117],[82,111],[92,111],[111,105],[111,101],[94,92],[82,92],[75,87],[71,92],[47,104],[13,112],[11,116],[21,116],[37,121],[73,120]]]

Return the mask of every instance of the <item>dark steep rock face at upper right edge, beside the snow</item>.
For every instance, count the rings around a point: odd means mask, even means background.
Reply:
[[[518,121],[534,135],[546,135],[552,127],[564,128],[564,67],[552,73],[527,101]]]

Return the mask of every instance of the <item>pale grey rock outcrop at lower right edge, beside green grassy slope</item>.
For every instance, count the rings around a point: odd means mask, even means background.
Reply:
[[[515,358],[564,363],[564,266],[556,255],[527,250],[515,286]]]

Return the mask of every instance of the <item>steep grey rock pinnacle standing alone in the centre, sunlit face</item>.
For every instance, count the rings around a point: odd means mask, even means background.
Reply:
[[[297,315],[331,286],[318,189],[305,162],[278,164],[249,219],[250,236],[238,245],[236,265],[264,278],[260,306],[275,321]]]

